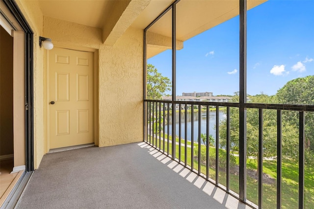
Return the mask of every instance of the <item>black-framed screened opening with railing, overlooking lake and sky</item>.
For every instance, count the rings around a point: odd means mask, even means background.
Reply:
[[[287,29],[299,3],[175,1],[144,30],[144,141],[253,208],[314,207],[314,54],[294,47],[313,51],[314,30]]]

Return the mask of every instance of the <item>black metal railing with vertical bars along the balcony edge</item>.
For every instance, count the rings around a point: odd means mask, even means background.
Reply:
[[[195,172],[199,176],[202,176],[209,182],[215,184],[216,186],[222,188],[227,193],[235,196],[240,201],[245,202],[253,208],[262,208],[263,207],[263,112],[266,109],[273,109],[277,111],[277,185],[276,185],[276,204],[277,208],[282,207],[282,111],[298,111],[299,115],[299,171],[298,171],[298,207],[304,208],[304,132],[305,132],[305,111],[313,112],[314,105],[298,105],[298,104],[251,104],[246,103],[245,109],[256,109],[258,110],[258,200],[255,201],[255,204],[250,203],[251,200],[242,200],[237,191],[232,191],[231,188],[231,167],[230,167],[230,158],[233,157],[231,153],[231,125],[230,125],[230,116],[231,108],[239,109],[239,103],[215,103],[215,102],[184,102],[184,101],[162,101],[162,100],[144,100],[145,115],[144,118],[144,141],[162,153],[165,153],[167,156],[172,157],[174,160],[177,160],[186,168],[190,169],[192,172]],[[209,140],[209,112],[210,108],[215,108],[215,145],[210,146]],[[196,108],[198,110],[196,110]],[[219,120],[219,110],[224,109],[225,114],[225,145],[223,149],[226,153],[225,167],[221,168],[219,165],[219,151],[221,147],[219,146],[220,139],[220,124]],[[202,118],[202,110],[206,115],[205,120]],[[190,111],[191,121],[187,120],[187,112]],[[238,110],[239,111],[239,110]],[[178,114],[179,117],[174,117],[172,114]],[[184,113],[183,113],[184,112]],[[203,115],[204,116],[204,115]],[[184,117],[184,119],[183,119]],[[194,130],[194,117],[198,118],[198,129]],[[173,121],[177,119],[178,121]],[[202,123],[206,123],[206,141],[205,144],[202,144]],[[178,122],[178,137],[176,137],[176,122]],[[190,129],[188,129],[188,123],[190,123]],[[170,126],[172,126],[172,134],[170,134]],[[188,140],[188,131],[190,131],[190,140]],[[194,138],[194,131],[197,132],[197,139]],[[245,129],[246,131],[246,129]],[[203,131],[204,132],[204,131]],[[246,135],[246,133],[244,134]],[[204,136],[203,136],[204,137]],[[171,139],[170,139],[171,138]],[[155,140],[154,140],[155,139]],[[246,140],[246,139],[245,139]],[[205,160],[204,160],[204,148],[205,148]],[[178,149],[178,152],[177,152]],[[215,149],[215,159],[212,160],[209,157],[210,150]],[[203,152],[202,152],[203,151]],[[190,152],[190,153],[189,153]],[[239,151],[238,156],[245,156],[246,154]],[[202,158],[203,157],[203,158]],[[214,166],[211,163],[214,162]],[[197,164],[197,166],[196,166]],[[205,166],[205,169],[204,169]],[[219,176],[219,167],[223,169],[225,174],[224,178],[220,179]],[[203,168],[203,170],[202,170]],[[210,174],[210,170],[214,170],[214,175]],[[241,169],[238,171],[238,175],[241,175]],[[244,170],[246,172],[246,169]],[[245,181],[246,182],[246,181]],[[240,185],[238,182],[237,185]],[[244,185],[246,187],[246,183]],[[243,188],[239,188],[239,191]],[[244,188],[244,191],[246,189]],[[244,193],[244,195],[246,195]],[[275,203],[274,203],[275,204]],[[275,204],[275,205],[276,205]]]

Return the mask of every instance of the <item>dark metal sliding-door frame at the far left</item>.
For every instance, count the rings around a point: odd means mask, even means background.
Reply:
[[[25,32],[25,163],[28,172],[34,170],[33,31],[14,0],[3,2]]]

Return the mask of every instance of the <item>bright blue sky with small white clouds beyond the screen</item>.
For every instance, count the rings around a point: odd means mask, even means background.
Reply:
[[[177,95],[233,95],[239,90],[238,54],[238,16],[186,40],[177,51]],[[171,79],[171,50],[148,63]],[[247,93],[274,95],[289,80],[308,75],[314,75],[314,0],[268,0],[249,10]]]

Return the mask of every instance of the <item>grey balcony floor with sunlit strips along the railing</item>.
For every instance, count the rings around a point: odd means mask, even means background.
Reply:
[[[16,208],[250,207],[142,142],[45,155]]]

